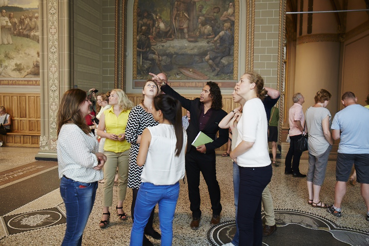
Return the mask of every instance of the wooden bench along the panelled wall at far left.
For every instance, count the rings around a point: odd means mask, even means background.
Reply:
[[[8,147],[34,147],[39,148],[40,132],[11,131],[4,139],[4,145]]]

